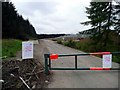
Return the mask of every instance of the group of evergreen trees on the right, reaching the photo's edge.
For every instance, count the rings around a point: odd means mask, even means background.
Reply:
[[[116,0],[115,0],[116,1]],[[120,3],[115,2],[90,2],[86,7],[86,13],[89,21],[82,22],[83,25],[91,25],[89,30],[79,32],[80,34],[91,34],[95,45],[106,47],[114,43],[109,37],[115,33],[115,37],[120,37]],[[111,33],[112,31],[112,33]],[[117,40],[117,45],[120,41]]]

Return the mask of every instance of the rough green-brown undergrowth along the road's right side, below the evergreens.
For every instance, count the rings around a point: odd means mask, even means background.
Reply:
[[[58,39],[57,43],[69,46],[85,52],[103,52],[110,51],[116,52],[120,51],[120,36],[114,31],[109,33],[109,38],[107,40],[106,46],[103,44],[104,39],[101,37],[99,43],[92,38],[81,39],[80,41],[68,40],[63,41]],[[113,61],[120,63],[120,55],[113,55]]]

